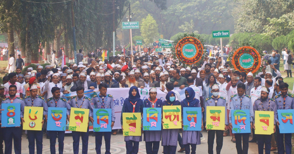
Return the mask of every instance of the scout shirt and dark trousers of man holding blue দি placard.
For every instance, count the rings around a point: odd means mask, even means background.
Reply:
[[[253,122],[253,105],[251,104],[251,97],[243,94],[239,96],[238,94],[231,96],[230,98],[230,113],[229,113],[229,123],[232,123],[232,112],[231,110],[249,110],[250,122]],[[236,149],[237,153],[248,153],[248,142],[250,133],[235,133],[236,138]],[[242,139],[243,138],[243,139]],[[243,149],[242,149],[243,140]]]

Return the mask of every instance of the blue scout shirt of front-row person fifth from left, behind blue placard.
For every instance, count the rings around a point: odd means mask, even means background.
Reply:
[[[98,96],[99,95],[99,96]],[[114,100],[112,95],[106,94],[101,96],[100,93],[92,97],[92,102],[95,109],[111,109],[111,121],[115,120],[114,116]]]

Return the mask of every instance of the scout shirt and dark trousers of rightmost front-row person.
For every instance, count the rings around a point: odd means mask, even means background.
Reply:
[[[278,94],[275,96],[274,101],[277,105],[278,110],[288,110],[294,109],[294,95],[293,94],[286,94],[283,96],[282,94]],[[277,132],[277,146],[278,146],[278,153],[291,153],[291,133],[280,133],[280,129],[276,126]],[[285,135],[285,149],[284,150],[284,135]]]

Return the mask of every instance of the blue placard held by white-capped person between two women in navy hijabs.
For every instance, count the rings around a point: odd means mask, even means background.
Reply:
[[[161,130],[161,108],[143,108],[143,131]]]

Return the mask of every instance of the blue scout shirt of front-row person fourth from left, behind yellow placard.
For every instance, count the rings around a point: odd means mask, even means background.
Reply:
[[[89,97],[86,97],[85,95],[82,98],[79,98],[77,96],[71,97],[71,100],[69,101],[69,105],[75,108],[90,109],[89,117],[90,116],[93,117],[94,106]]]

